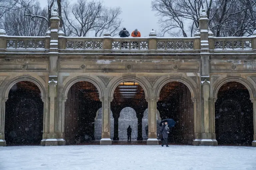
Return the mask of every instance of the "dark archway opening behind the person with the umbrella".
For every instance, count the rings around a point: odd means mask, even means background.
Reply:
[[[175,144],[192,144],[194,139],[194,103],[188,87],[178,81],[166,83],[159,95],[157,109],[162,120],[176,121],[171,128],[169,142]],[[158,128],[159,125],[157,125]]]

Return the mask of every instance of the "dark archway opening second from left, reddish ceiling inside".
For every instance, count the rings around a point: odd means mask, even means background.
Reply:
[[[99,108],[101,101],[95,85],[79,81],[71,86],[65,102],[66,144],[86,143],[95,139],[94,122]]]

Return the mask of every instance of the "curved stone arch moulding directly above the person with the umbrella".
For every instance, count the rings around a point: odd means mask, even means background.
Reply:
[[[187,79],[185,79],[183,77],[168,77],[168,78],[162,80],[158,84],[158,86],[156,88],[155,96],[157,98],[159,98],[160,91],[162,90],[163,86],[165,84],[169,83],[169,82],[172,82],[172,81],[178,81],[178,82],[181,82],[181,83],[185,84],[188,87],[188,89],[189,89],[189,91],[191,93],[191,98],[195,98],[196,97],[196,90],[195,90],[194,86],[192,85],[192,83],[189,80],[187,80]]]

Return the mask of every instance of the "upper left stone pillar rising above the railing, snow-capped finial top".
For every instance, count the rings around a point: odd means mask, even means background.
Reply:
[[[51,76],[57,76],[57,60],[58,60],[58,39],[59,39],[59,24],[60,18],[56,9],[51,14],[51,40],[50,40],[50,49],[49,49],[49,58],[50,58],[50,73]]]

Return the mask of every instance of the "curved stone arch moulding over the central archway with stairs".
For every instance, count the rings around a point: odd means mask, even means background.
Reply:
[[[143,80],[141,80],[140,78],[134,77],[134,76],[125,76],[125,77],[121,77],[121,78],[117,79],[117,80],[111,85],[111,87],[110,87],[110,91],[109,91],[109,96],[110,96],[110,97],[113,97],[113,96],[114,96],[114,91],[115,91],[116,87],[117,87],[120,83],[122,83],[122,82],[124,82],[124,81],[134,81],[134,82],[139,83],[139,85],[143,88],[143,90],[144,90],[144,92],[145,92],[145,98],[148,98],[148,96],[149,96],[149,94],[148,94],[148,93],[149,93],[149,90],[148,90],[147,84],[146,84]]]

